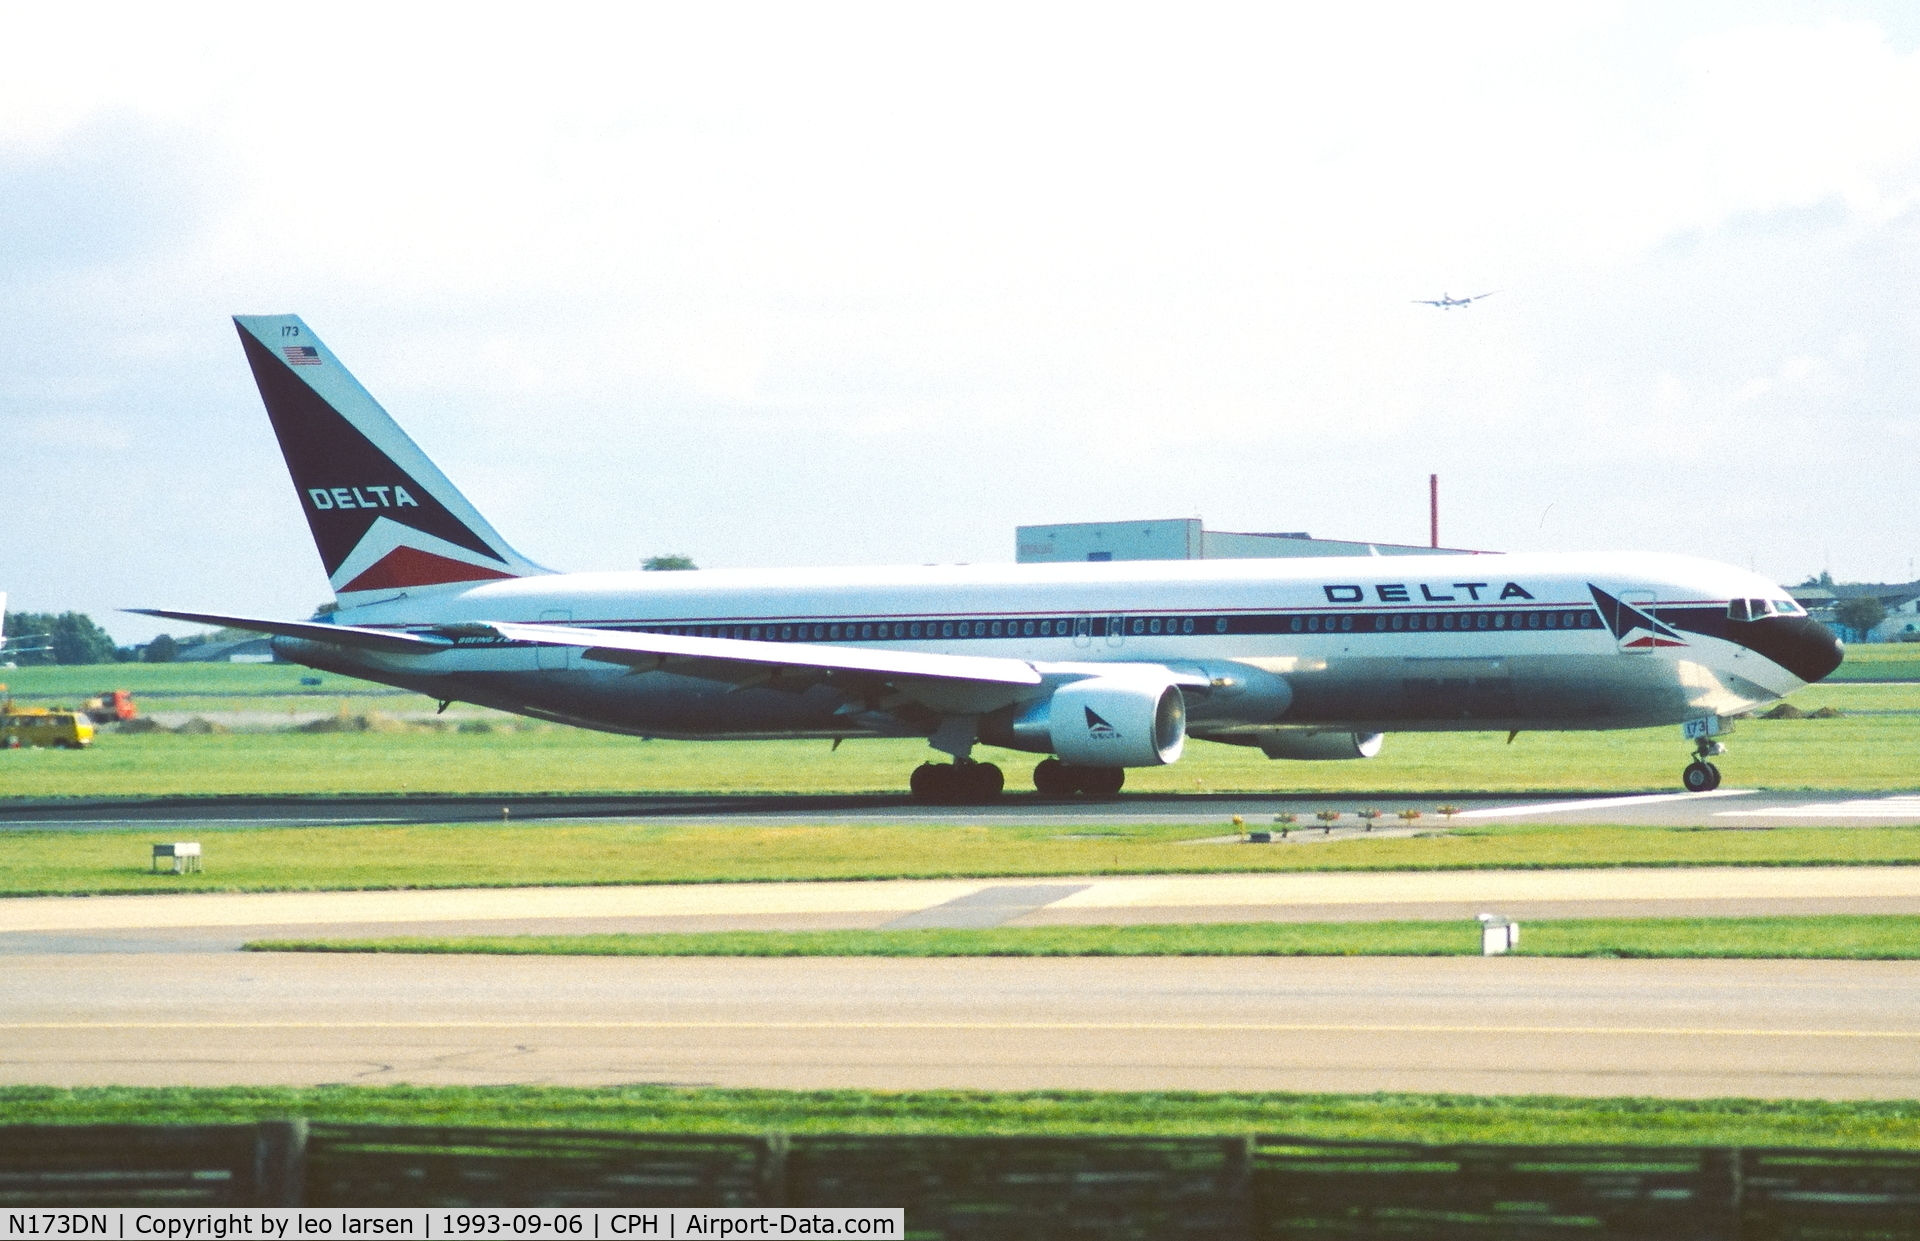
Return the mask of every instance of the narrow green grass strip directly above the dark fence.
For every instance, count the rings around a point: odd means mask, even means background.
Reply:
[[[0,1087],[10,1124],[305,1116],[651,1133],[1286,1133],[1379,1141],[1920,1149],[1920,1103],[670,1085]]]

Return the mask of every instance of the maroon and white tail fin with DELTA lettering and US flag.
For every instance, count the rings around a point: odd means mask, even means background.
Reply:
[[[342,605],[549,572],[507,546],[298,315],[234,315],[234,327]]]

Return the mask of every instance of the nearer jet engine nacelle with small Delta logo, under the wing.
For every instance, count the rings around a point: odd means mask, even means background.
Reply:
[[[979,740],[1073,766],[1165,766],[1187,747],[1187,695],[1165,680],[1089,676],[1010,720],[981,718]]]

